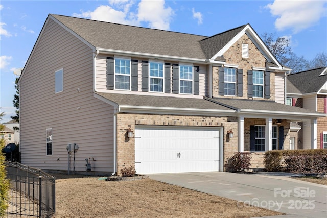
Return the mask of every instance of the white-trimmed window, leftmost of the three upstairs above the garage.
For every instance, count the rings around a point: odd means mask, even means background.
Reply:
[[[126,58],[114,59],[115,89],[131,89],[131,60]]]

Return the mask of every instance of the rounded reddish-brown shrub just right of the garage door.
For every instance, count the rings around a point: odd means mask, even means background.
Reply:
[[[227,160],[227,172],[244,172],[250,169],[251,153],[236,152]]]

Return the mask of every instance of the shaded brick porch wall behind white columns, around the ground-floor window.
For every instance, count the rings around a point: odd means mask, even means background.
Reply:
[[[244,151],[250,151],[250,126],[253,125],[266,125],[266,119],[244,119]],[[283,126],[284,127],[284,149],[290,149],[290,123],[286,120],[282,120],[281,124],[277,124],[277,120],[272,120],[273,126]],[[279,132],[278,132],[279,133]],[[279,135],[278,135],[279,137]],[[251,159],[251,168],[263,168],[263,156],[264,152],[253,152]]]

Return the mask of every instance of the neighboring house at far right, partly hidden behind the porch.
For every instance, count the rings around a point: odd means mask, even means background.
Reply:
[[[297,72],[287,76],[287,104],[327,113],[327,67]],[[310,122],[298,122],[301,130],[298,132],[298,148],[310,148],[312,130]],[[327,149],[327,117],[317,119],[318,148]]]

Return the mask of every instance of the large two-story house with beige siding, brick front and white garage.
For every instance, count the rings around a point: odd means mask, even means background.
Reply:
[[[247,24],[206,37],[49,15],[19,78],[21,162],[95,174],[223,171],[290,149],[283,67]],[[316,136],[309,139],[316,148]],[[74,168],[73,168],[74,165]]]

